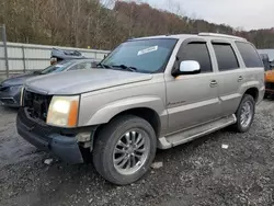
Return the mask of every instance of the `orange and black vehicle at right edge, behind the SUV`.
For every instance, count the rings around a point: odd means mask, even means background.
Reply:
[[[265,98],[274,96],[274,68],[273,65],[270,61],[270,58],[266,54],[262,54],[261,58],[264,64],[264,81],[265,81]]]

